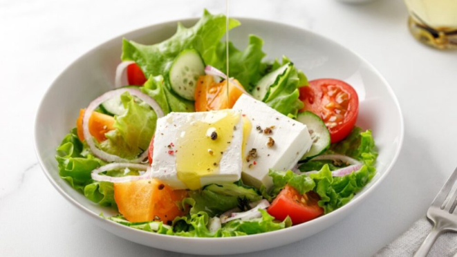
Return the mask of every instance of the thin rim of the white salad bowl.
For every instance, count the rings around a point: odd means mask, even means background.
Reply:
[[[346,46],[344,46],[342,44],[339,44],[338,41],[330,39],[330,37],[326,37],[324,35],[320,35],[317,32],[314,32],[312,30],[308,30],[307,28],[301,28],[299,26],[295,26],[295,25],[292,25],[292,24],[282,23],[282,22],[279,22],[279,21],[270,21],[270,20],[267,20],[267,19],[258,19],[258,18],[250,18],[250,17],[232,17],[232,18],[239,19],[241,21],[241,24],[243,23],[243,21],[250,21],[250,22],[257,22],[257,23],[270,23],[271,25],[274,25],[274,26],[286,26],[286,27],[289,27],[289,28],[294,28],[296,30],[301,30],[302,32],[309,33],[309,34],[311,34],[314,37],[317,37],[319,39],[323,39],[325,41],[330,41],[330,43],[336,44],[339,47],[343,48],[344,50],[348,51],[348,53],[351,53],[352,55],[354,55],[355,57],[360,59],[360,61],[362,61],[364,64],[366,64],[366,66],[368,66],[373,71],[373,73],[375,73],[375,75],[377,75],[377,77],[379,77],[381,79],[381,81],[383,82],[383,84],[386,86],[386,90],[388,91],[389,95],[392,97],[393,102],[395,104],[395,108],[398,111],[398,114],[399,114],[399,125],[400,125],[400,135],[398,135],[398,138],[399,138],[398,145],[397,145],[397,147],[395,149],[395,155],[393,156],[393,159],[386,166],[384,173],[382,173],[380,175],[380,177],[377,178],[377,180],[368,189],[366,189],[366,191],[364,191],[363,193],[359,194],[359,196],[357,198],[352,199],[351,201],[349,201],[347,204],[344,204],[344,206],[340,207],[339,209],[336,209],[335,211],[327,213],[324,216],[320,216],[319,218],[316,218],[314,220],[310,220],[308,222],[304,222],[304,223],[301,223],[299,225],[294,225],[294,226],[291,226],[291,227],[288,227],[288,228],[285,228],[285,229],[279,229],[279,230],[276,230],[276,231],[269,231],[269,232],[265,232],[265,233],[261,233],[261,234],[248,235],[247,237],[248,238],[259,238],[259,237],[264,237],[264,236],[274,236],[274,235],[277,235],[277,234],[286,233],[286,231],[292,232],[292,230],[306,229],[306,227],[313,226],[317,222],[325,223],[326,220],[328,220],[330,218],[333,218],[334,216],[338,216],[339,213],[342,213],[343,211],[351,209],[354,205],[358,204],[358,202],[361,202],[364,199],[368,198],[371,195],[371,193],[387,177],[387,175],[390,173],[391,169],[393,168],[393,165],[397,162],[398,156],[400,155],[400,151],[402,149],[403,141],[404,141],[404,117],[402,115],[402,110],[400,108],[400,104],[398,102],[398,99],[397,99],[395,93],[393,92],[393,89],[391,88],[391,86],[387,82],[387,80],[384,78],[384,76],[381,75],[381,73],[375,68],[375,66],[373,66],[373,64],[371,64],[369,61],[366,61],[366,59],[364,59],[358,53],[355,53],[350,48],[347,48]],[[41,166],[41,170],[46,175],[46,178],[48,178],[49,182],[53,185],[53,187],[55,187],[55,189],[57,189],[57,191],[59,191],[59,193],[62,196],[64,196],[64,198],[66,198],[66,200],[71,202],[75,207],[77,207],[77,209],[80,209],[80,211],[88,214],[88,216],[91,216],[91,218],[99,219],[102,222],[104,222],[104,224],[106,224],[108,226],[115,226],[115,227],[118,227],[120,229],[126,229],[127,231],[131,231],[133,233],[142,234],[144,236],[152,236],[152,237],[160,236],[160,237],[165,237],[165,238],[177,238],[179,240],[186,240],[186,241],[189,241],[189,242],[192,242],[192,241],[195,241],[195,240],[203,241],[203,242],[206,242],[206,241],[207,242],[214,242],[215,240],[238,242],[238,241],[244,240],[246,238],[246,236],[235,236],[235,237],[227,237],[227,238],[199,238],[199,237],[170,236],[170,235],[165,235],[165,234],[151,233],[149,231],[143,231],[143,230],[140,230],[140,229],[134,229],[134,228],[129,227],[129,226],[121,225],[118,222],[113,222],[111,220],[107,220],[105,218],[102,218],[102,217],[100,217],[100,215],[97,215],[96,213],[94,213],[90,209],[88,209],[88,208],[84,207],[82,204],[80,204],[80,202],[78,202],[77,200],[75,200],[71,196],[69,196],[62,189],[62,187],[59,187],[59,184],[57,184],[57,182],[50,175],[50,171],[48,171],[48,169],[46,169],[46,166],[44,164],[44,160],[41,159],[41,155],[40,155],[40,153],[38,151],[38,147],[39,146],[38,146],[37,138],[39,137],[39,135],[38,135],[37,124],[39,122],[39,117],[40,117],[39,114],[41,113],[41,108],[43,108],[43,105],[44,105],[44,99],[46,99],[46,97],[50,94],[50,91],[52,91],[53,88],[55,87],[55,83],[62,77],[62,75],[66,72],[66,70],[68,70],[71,67],[73,67],[78,61],[80,61],[81,59],[83,59],[87,55],[91,55],[91,53],[93,53],[93,52],[99,50],[100,48],[102,48],[102,46],[104,46],[104,44],[108,43],[109,41],[113,41],[114,39],[118,39],[120,37],[123,37],[126,34],[133,33],[133,32],[138,32],[140,30],[146,30],[146,29],[154,27],[154,26],[167,26],[167,25],[176,24],[178,22],[183,22],[183,23],[196,22],[196,21],[198,21],[198,19],[199,19],[198,17],[185,18],[185,19],[173,19],[173,20],[169,20],[169,21],[162,21],[160,23],[152,23],[152,24],[149,24],[147,26],[143,26],[141,28],[137,28],[135,30],[129,30],[127,32],[122,33],[121,35],[118,35],[116,37],[112,37],[112,38],[110,38],[110,39],[108,39],[106,41],[103,41],[101,44],[98,44],[97,46],[95,46],[95,47],[91,48],[90,50],[86,51],[86,53],[84,53],[80,57],[77,57],[77,59],[72,61],[71,64],[66,66],[66,68],[64,68],[64,70],[62,70],[59,73],[59,75],[53,80],[53,82],[50,84],[50,86],[48,86],[48,88],[46,89],[46,92],[44,93],[44,95],[42,95],[41,100],[39,102],[39,106],[37,108],[37,112],[35,113],[35,124],[34,124],[35,155],[37,156],[39,165]]]

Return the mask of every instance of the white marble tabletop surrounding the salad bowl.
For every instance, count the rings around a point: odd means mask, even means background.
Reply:
[[[223,0],[0,0],[0,256],[178,256],[113,236],[55,191],[37,165],[41,96],[77,57],[151,23],[224,11]],[[418,44],[400,0],[232,0],[232,15],[274,19],[339,41],[374,64],[398,95],[406,133],[393,171],[352,216],[252,256],[371,256],[418,218],[457,166],[457,52]]]

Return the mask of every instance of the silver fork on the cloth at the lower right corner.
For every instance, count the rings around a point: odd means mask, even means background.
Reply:
[[[436,238],[443,232],[457,232],[457,189],[452,193],[451,198],[447,200],[447,196],[449,196],[456,180],[457,168],[442,187],[435,200],[431,202],[431,206],[427,211],[427,218],[433,224],[433,229],[431,229],[429,236],[422,242],[414,257],[427,256]]]

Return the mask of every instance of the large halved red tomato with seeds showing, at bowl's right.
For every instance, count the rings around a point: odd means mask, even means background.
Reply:
[[[338,79],[315,79],[300,88],[300,99],[305,104],[300,111],[319,115],[332,143],[351,133],[359,114],[359,97],[351,85]]]

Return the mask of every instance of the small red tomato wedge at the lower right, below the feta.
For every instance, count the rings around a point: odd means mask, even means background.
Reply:
[[[313,220],[324,213],[324,209],[317,205],[319,195],[309,191],[301,195],[297,189],[286,185],[274,198],[267,211],[277,220],[284,220],[287,216],[292,219],[292,224],[300,224]]]

